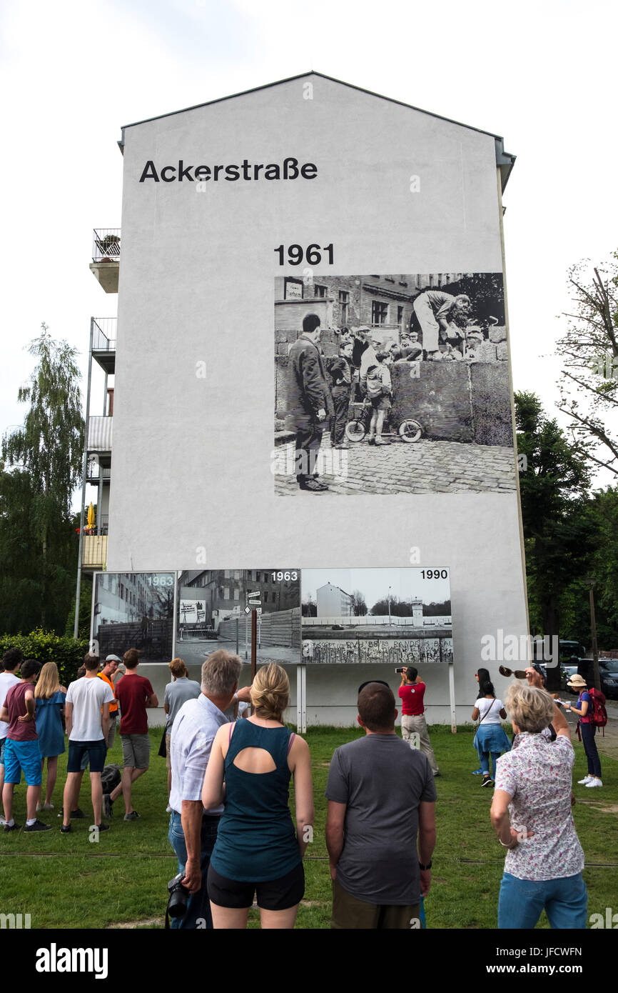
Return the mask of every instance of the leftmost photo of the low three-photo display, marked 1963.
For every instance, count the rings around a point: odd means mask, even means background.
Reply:
[[[138,648],[140,662],[172,658],[174,572],[101,572],[94,577],[92,638],[101,658]]]

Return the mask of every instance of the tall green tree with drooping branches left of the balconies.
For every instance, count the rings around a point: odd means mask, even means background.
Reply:
[[[28,351],[38,363],[18,400],[29,410],[2,440],[0,609],[14,631],[62,632],[76,568],[70,500],[83,450],[80,372],[76,350],[53,341],[45,324]]]

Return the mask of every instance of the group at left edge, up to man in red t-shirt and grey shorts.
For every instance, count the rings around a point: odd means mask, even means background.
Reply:
[[[68,688],[61,685],[56,662],[41,665],[35,658],[24,659],[19,648],[11,648],[2,658],[0,672],[0,787],[5,832],[19,831],[22,825],[13,817],[13,793],[26,780],[27,818],[23,830],[50,831],[52,825],[40,820],[40,811],[55,809],[54,789],[59,756],[67,739],[66,780],[62,809],[62,834],[71,830],[71,820],[86,819],[78,806],[79,789],[89,766],[92,826],[109,830],[103,816],[112,815],[112,805],[122,793],[125,820],[137,820],[131,796],[133,782],[147,772],[150,756],[149,707],[159,701],[148,679],[137,674],[139,651],[130,648],[121,659],[108,655],[101,665],[98,655],[87,654]],[[17,673],[21,671],[21,678]],[[107,752],[114,743],[118,711],[122,719],[123,770],[120,783],[103,793],[101,774]],[[41,803],[45,762],[48,777],[45,800]]]

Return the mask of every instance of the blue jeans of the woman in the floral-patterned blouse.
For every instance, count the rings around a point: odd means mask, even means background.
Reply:
[[[552,928],[585,928],[588,894],[581,873],[561,879],[518,879],[505,872],[498,899],[498,927],[532,928],[545,910]]]

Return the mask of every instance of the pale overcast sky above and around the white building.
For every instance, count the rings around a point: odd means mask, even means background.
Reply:
[[[514,384],[555,416],[566,270],[618,247],[617,10],[5,0],[0,429],[23,420],[24,347],[42,321],[80,351],[85,375],[90,316],[116,314],[88,262],[92,228],[120,226],[121,126],[310,70],[504,136],[518,156],[504,198]]]

